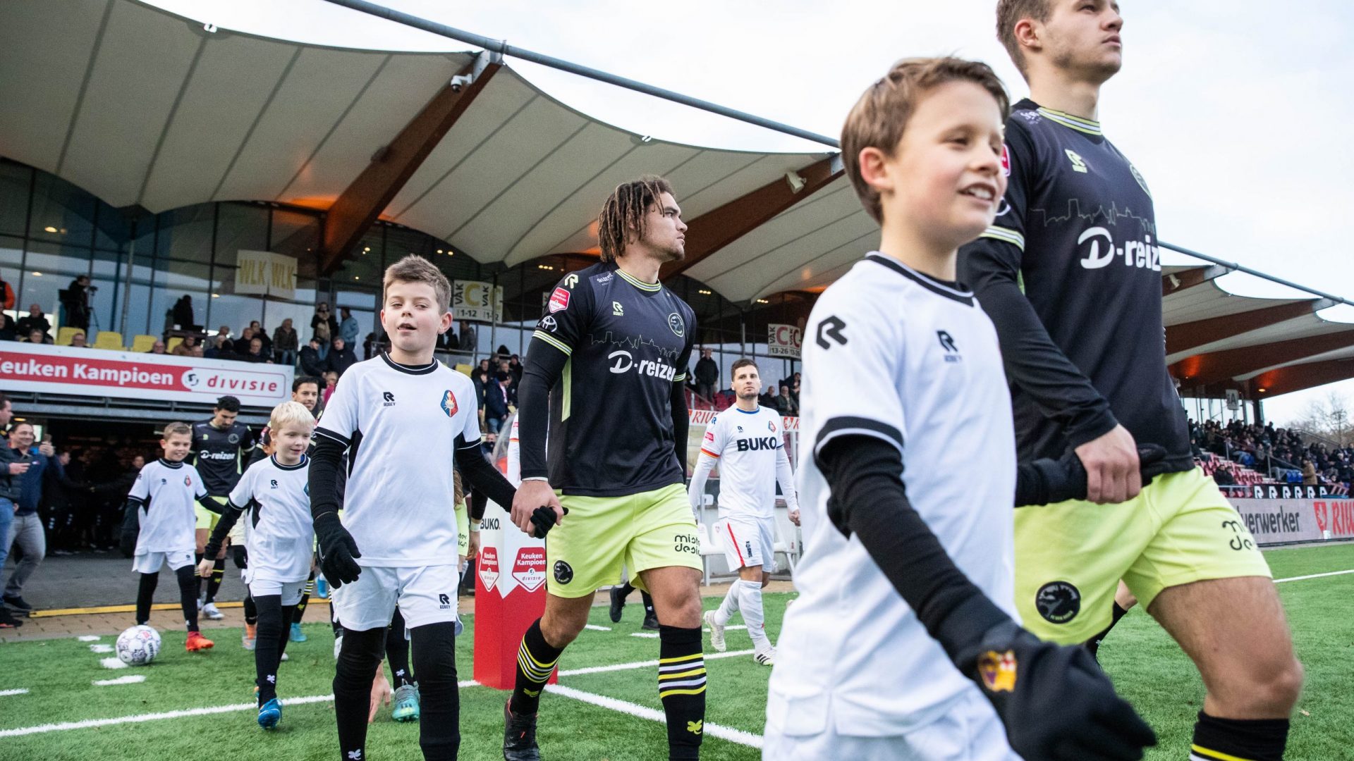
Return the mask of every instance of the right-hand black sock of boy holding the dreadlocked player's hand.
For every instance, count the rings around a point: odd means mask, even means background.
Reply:
[[[414,627],[409,635],[418,674],[418,746],[424,758],[455,758],[460,749],[456,624],[425,624]]]

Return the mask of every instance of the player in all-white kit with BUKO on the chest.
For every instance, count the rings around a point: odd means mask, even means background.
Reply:
[[[738,569],[738,581],[718,611],[705,611],[709,643],[724,651],[724,627],[735,612],[743,613],[753,638],[753,658],[764,666],[776,662],[776,649],[766,639],[761,590],[776,571],[776,485],[785,496],[791,513],[799,510],[795,474],[785,455],[779,412],[757,404],[761,375],[757,363],[743,357],[734,363],[733,389],[738,402],[709,420],[700,443],[700,460],[691,477],[691,509],[700,509],[705,478],[719,463],[719,521],[715,536],[724,547],[728,567]]]

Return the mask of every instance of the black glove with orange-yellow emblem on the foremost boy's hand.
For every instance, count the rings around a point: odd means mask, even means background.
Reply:
[[[1043,642],[1016,622],[999,623],[956,654],[978,682],[1022,758],[1136,761],[1156,734],[1124,699],[1085,647]]]

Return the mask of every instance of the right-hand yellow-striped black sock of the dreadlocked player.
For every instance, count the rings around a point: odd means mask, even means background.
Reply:
[[[700,627],[658,627],[658,699],[668,716],[668,756],[700,758],[705,731],[705,657]]]

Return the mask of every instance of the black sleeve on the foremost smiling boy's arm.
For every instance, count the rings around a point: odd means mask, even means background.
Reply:
[[[818,454],[831,487],[827,517],[860,538],[894,589],[951,658],[1010,620],[959,570],[907,501],[898,448],[872,436],[841,436]]]

